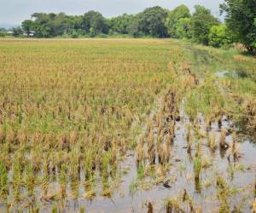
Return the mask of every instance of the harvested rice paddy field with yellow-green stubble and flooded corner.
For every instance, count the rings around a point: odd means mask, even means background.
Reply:
[[[236,49],[0,40],[0,212],[256,212],[255,132]]]

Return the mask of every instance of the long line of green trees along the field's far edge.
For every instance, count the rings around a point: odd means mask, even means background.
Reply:
[[[224,0],[220,4],[222,23],[201,5],[191,13],[185,5],[168,10],[159,6],[144,9],[139,14],[122,14],[110,19],[97,11],[83,15],[32,14],[21,27],[13,29],[14,36],[26,33],[34,37],[173,37],[196,43],[227,47],[243,43],[251,53],[256,51],[256,1]]]

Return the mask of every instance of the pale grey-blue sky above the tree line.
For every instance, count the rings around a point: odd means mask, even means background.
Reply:
[[[105,17],[119,14],[136,14],[148,7],[159,5],[174,9],[185,4],[193,9],[201,4],[218,16],[218,5],[223,0],[0,0],[0,26],[19,25],[35,12],[84,14],[88,10],[97,10]]]

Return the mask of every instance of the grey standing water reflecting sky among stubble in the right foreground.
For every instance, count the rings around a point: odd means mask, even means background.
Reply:
[[[154,115],[152,115],[154,117]],[[110,198],[98,195],[102,191],[101,179],[96,178],[96,197],[84,199],[85,193],[83,184],[78,184],[77,191],[79,199],[72,198],[71,186],[67,187],[66,201],[63,203],[63,212],[78,212],[84,206],[86,212],[149,212],[148,204],[152,205],[154,212],[166,212],[166,200],[183,196],[186,192],[189,199],[193,200],[195,208],[201,208],[203,212],[218,210],[218,188],[216,177],[221,176],[230,188],[228,203],[231,210],[235,205],[239,205],[243,212],[251,212],[250,205],[253,200],[253,184],[256,174],[256,141],[247,135],[237,135],[237,145],[239,147],[239,157],[236,160],[230,158],[230,150],[212,151],[207,147],[207,140],[201,139],[202,170],[200,183],[196,184],[194,179],[194,158],[195,143],[193,143],[191,153],[188,153],[187,125],[189,119],[180,111],[180,121],[176,123],[175,139],[172,145],[170,167],[163,181],[158,179],[157,172],[154,176],[145,176],[142,181],[137,181],[137,159],[133,151],[129,151],[119,164],[119,171],[124,175],[119,181],[116,190]],[[220,129],[227,130],[226,142],[231,144],[232,130],[236,130],[235,124],[225,116],[222,124],[214,123],[207,133],[203,118],[199,117],[197,129],[201,134],[213,134],[217,141],[220,137]],[[193,133],[195,141],[195,132]],[[157,167],[157,165],[154,165]],[[83,172],[81,173],[83,176]],[[168,181],[168,184],[164,184]],[[135,183],[137,185],[135,187]],[[157,182],[157,183],[156,183]],[[143,185],[143,186],[140,186]],[[55,192],[59,186],[53,182],[49,186],[49,191]],[[185,191],[184,191],[185,190]],[[42,194],[42,192],[41,192]],[[52,209],[52,201],[37,200],[41,203],[40,212],[49,212]],[[59,205],[59,204],[58,204]],[[183,204],[181,204],[183,206]],[[4,211],[5,206],[0,206],[0,211]],[[188,206],[184,205],[183,210],[189,212]]]

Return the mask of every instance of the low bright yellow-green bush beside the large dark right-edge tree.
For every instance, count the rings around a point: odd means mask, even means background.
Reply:
[[[232,43],[232,37],[228,32],[227,26],[222,24],[212,26],[209,33],[209,44],[213,47],[227,47]]]

